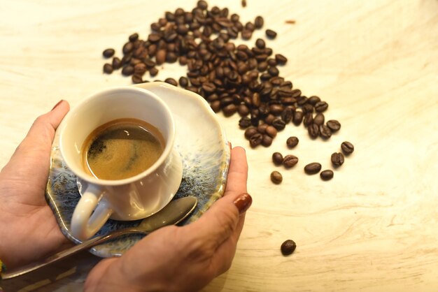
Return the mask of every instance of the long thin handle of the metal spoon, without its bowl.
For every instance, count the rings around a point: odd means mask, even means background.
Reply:
[[[45,265],[50,265],[51,263],[55,263],[62,258],[66,258],[67,256],[71,256],[72,254],[77,254],[79,251],[83,251],[84,249],[90,249],[91,247],[96,246],[97,244],[101,244],[103,242],[106,242],[107,240],[111,240],[112,238],[117,238],[120,235],[125,235],[127,233],[141,233],[147,235],[148,232],[141,231],[137,228],[125,228],[121,229],[119,231],[114,231],[112,233],[109,233],[107,235],[101,235],[97,236],[96,238],[92,238],[90,240],[86,240],[82,242],[81,244],[75,245],[74,247],[71,247],[69,249],[64,249],[63,251],[59,251],[57,254],[53,254],[52,256],[49,256],[48,258],[43,259],[42,261],[31,263],[29,265],[25,265],[22,268],[17,268],[15,270],[10,270],[6,272],[1,273],[1,279],[11,279],[14,277],[18,277],[24,274],[27,274],[28,272],[31,272],[33,270],[37,270],[39,268],[44,267]]]

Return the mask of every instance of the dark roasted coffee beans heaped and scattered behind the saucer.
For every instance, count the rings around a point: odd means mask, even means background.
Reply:
[[[326,101],[318,96],[304,96],[291,81],[281,77],[279,67],[288,59],[275,54],[262,38],[257,38],[253,46],[234,43],[239,36],[251,39],[254,31],[263,27],[260,15],[253,22],[244,23],[228,8],[209,8],[206,1],[200,0],[190,11],[177,8],[164,13],[164,17],[150,24],[146,39],[136,33],[130,35],[122,46],[121,58],[115,57],[113,48],[104,50],[103,56],[112,58],[104,64],[104,73],[121,69],[122,75],[131,76],[134,83],[149,82],[144,79],[147,73],[154,78],[162,64],[178,62],[187,66],[186,75],[178,81],[166,78],[164,82],[199,94],[214,112],[222,111],[226,117],[239,114],[239,127],[245,130],[250,147],[269,147],[278,131],[289,124],[303,124],[313,139],[329,139],[341,129],[341,124],[335,119],[325,122]],[[267,39],[277,36],[271,29],[264,32]],[[295,136],[286,141],[289,148],[298,143]],[[344,153],[354,149],[351,143],[343,143],[341,148]],[[292,168],[298,161],[292,155],[281,159],[274,163],[285,168]],[[335,159],[334,166],[344,162],[338,154]],[[323,180],[330,180],[330,175],[323,173]],[[278,183],[278,175],[274,180]]]

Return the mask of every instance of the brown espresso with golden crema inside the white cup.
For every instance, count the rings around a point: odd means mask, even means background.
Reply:
[[[86,173],[100,180],[123,180],[142,173],[164,150],[162,133],[141,119],[115,119],[94,129],[83,144]]]

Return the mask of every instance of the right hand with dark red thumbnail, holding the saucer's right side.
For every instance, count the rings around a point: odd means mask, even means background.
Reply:
[[[197,291],[227,271],[236,251],[245,212],[245,150],[235,147],[223,198],[186,226],[167,226],[143,238],[120,258],[101,261],[85,291]]]

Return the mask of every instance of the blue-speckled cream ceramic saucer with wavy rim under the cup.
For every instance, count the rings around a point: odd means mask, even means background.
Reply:
[[[229,166],[229,144],[216,114],[201,96],[163,82],[135,85],[157,94],[167,103],[176,124],[175,147],[183,161],[183,180],[175,198],[196,196],[197,209],[183,221],[195,221],[223,195]],[[66,167],[59,153],[59,135],[52,144],[50,174],[45,197],[52,208],[62,233],[69,240],[80,243],[71,235],[70,220],[80,198],[76,176]],[[120,228],[136,226],[140,221],[108,220],[97,235]],[[97,236],[96,235],[96,236]],[[90,249],[101,257],[120,256],[142,235],[126,235]]]

